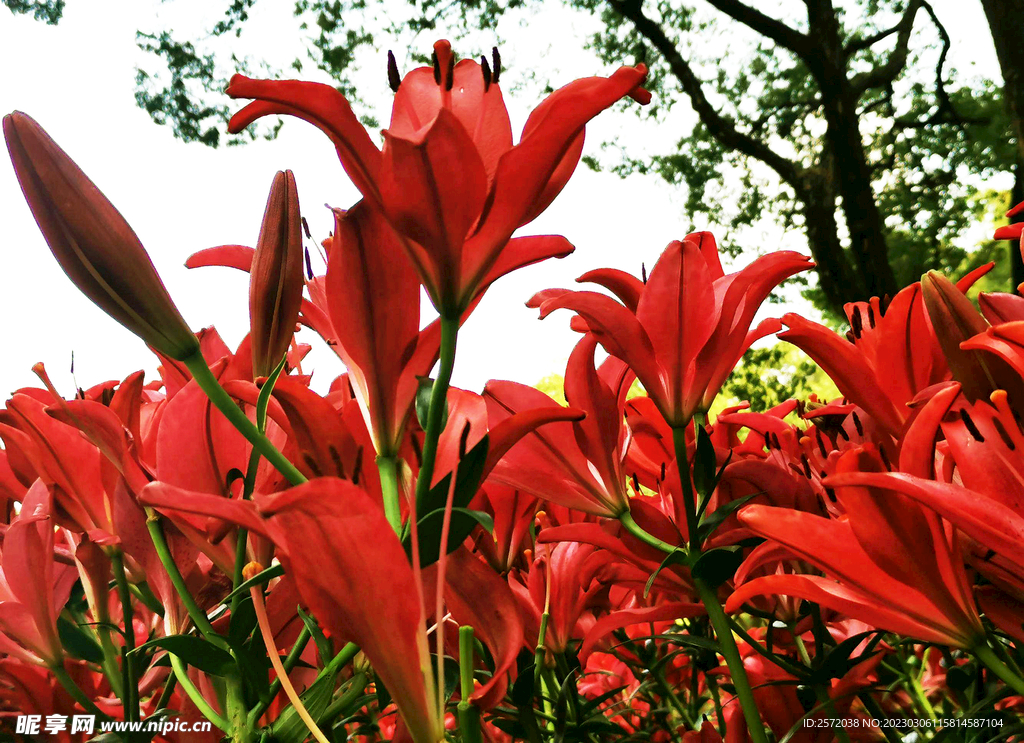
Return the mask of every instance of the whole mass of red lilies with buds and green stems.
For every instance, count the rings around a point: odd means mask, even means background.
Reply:
[[[513,144],[500,75],[497,51],[456,61],[446,42],[404,78],[389,57],[382,147],[331,87],[231,81],[252,99],[232,131],[304,119],[362,194],[335,212],[324,275],[290,172],[255,248],[189,259],[250,273],[233,350],[185,324],[42,128],[4,119],[53,255],[161,363],[71,399],[39,365],[41,387],[0,410],[4,726],[206,719],[116,735],[236,743],[1024,736],[1024,299],[982,294],[979,310],[966,293],[986,266],[849,305],[846,337],[796,314],[752,327],[812,264],[776,252],[726,273],[700,232],[649,276],[599,269],[580,278],[597,291],[529,299],[580,334],[567,406],[513,382],[451,387],[487,287],[573,250],[513,234],[566,183],[587,122],[650,97],[642,64],[578,80]],[[421,288],[438,313],[423,327]],[[326,395],[298,324],[347,369]],[[843,397],[710,421],[775,333]]]

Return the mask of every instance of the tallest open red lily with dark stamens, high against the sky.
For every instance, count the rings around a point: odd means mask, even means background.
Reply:
[[[543,212],[575,168],[584,126],[620,98],[649,100],[643,64],[589,78],[553,93],[513,146],[495,68],[463,59],[446,41],[434,44],[432,68],[396,88],[383,150],[333,87],[236,75],[227,94],[256,98],[236,114],[238,132],[260,117],[289,114],[323,129],[362,195],[380,210],[416,266],[434,306],[459,317],[509,271],[572,248],[561,237],[512,233]],[[397,78],[397,71],[393,77]]]

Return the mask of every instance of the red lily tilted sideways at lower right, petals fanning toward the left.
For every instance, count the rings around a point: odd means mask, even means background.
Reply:
[[[885,468],[865,445],[844,454],[838,471],[842,475]],[[984,630],[970,598],[955,534],[947,536],[934,512],[889,488],[853,485],[840,476],[825,484],[836,487],[845,518],[750,506],[739,520],[829,577],[755,578],[736,588],[726,611],[738,610],[752,596],[783,594],[926,642],[973,647]]]

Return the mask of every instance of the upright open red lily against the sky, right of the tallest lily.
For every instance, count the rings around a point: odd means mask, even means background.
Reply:
[[[726,275],[714,237],[696,232],[666,248],[635,312],[602,294],[565,292],[543,302],[541,316],[578,312],[605,350],[630,364],[665,420],[682,427],[711,407],[750,344],[778,329],[770,321],[748,333],[771,290],[812,265],[783,251]]]

